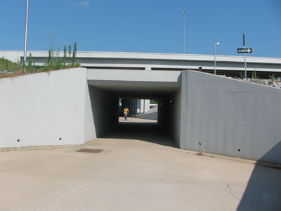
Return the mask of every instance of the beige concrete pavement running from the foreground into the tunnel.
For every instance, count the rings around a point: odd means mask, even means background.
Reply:
[[[280,178],[180,150],[154,122],[121,122],[84,146],[0,152],[0,210],[280,210]]]

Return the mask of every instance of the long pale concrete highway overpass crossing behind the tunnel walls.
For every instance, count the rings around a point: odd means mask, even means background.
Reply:
[[[28,51],[32,61],[44,65],[48,51]],[[9,60],[22,59],[22,51],[0,51],[0,56]],[[63,56],[63,53],[60,53]],[[110,70],[197,70],[214,73],[214,55],[188,55],[172,53],[119,53],[119,52],[84,52],[78,51],[77,58],[81,66],[89,69]],[[239,76],[244,72],[243,56],[216,56],[218,75]],[[259,77],[268,78],[275,74],[281,77],[281,58],[261,58],[247,56],[247,72],[251,77],[256,72]]]

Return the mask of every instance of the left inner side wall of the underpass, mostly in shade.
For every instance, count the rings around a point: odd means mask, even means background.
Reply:
[[[89,97],[91,106],[86,109],[89,119],[85,119],[85,127],[88,128],[85,131],[85,142],[106,134],[118,124],[119,98],[91,86]]]

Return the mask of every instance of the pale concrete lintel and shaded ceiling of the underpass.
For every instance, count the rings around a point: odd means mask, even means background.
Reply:
[[[157,98],[181,87],[181,71],[88,70],[91,87],[119,97]]]

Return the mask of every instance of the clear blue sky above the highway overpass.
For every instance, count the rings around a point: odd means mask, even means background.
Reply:
[[[0,51],[23,50],[26,0],[0,1]],[[28,50],[77,42],[78,51],[185,53],[281,58],[280,0],[30,0]]]

